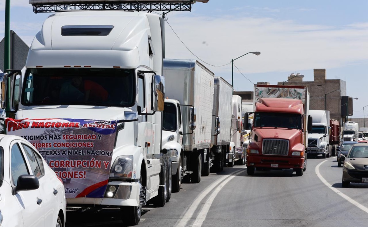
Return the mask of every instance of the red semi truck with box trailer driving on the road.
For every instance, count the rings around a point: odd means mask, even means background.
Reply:
[[[247,173],[255,169],[293,169],[303,175],[307,169],[309,93],[306,86],[254,85],[253,125],[247,148]],[[248,113],[244,122],[248,122]]]

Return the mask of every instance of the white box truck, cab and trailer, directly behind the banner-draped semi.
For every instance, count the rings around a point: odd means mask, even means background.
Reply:
[[[183,182],[199,183],[201,175],[209,175],[214,74],[196,60],[164,59],[163,67],[170,98],[165,101],[163,149],[172,151],[173,189],[179,191],[181,176]],[[173,114],[176,124],[169,123]]]

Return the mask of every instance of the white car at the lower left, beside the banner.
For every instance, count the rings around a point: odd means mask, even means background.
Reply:
[[[25,139],[0,135],[0,226],[64,227],[65,189]]]

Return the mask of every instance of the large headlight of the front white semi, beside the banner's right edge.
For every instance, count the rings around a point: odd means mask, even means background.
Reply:
[[[133,171],[133,156],[118,156],[111,168],[110,177],[120,177],[130,179]]]

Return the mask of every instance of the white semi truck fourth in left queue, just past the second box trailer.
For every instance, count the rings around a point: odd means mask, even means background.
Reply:
[[[242,106],[241,97],[233,95],[232,100],[232,114],[231,114],[231,142],[230,152],[233,152],[233,162],[229,167],[233,167],[234,164],[245,164],[245,150],[243,150],[243,136],[241,130],[243,130],[242,118]]]

